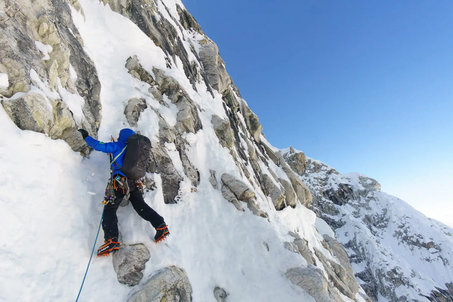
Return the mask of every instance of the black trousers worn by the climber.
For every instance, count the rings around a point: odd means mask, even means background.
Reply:
[[[142,193],[137,187],[135,187],[135,181],[133,179],[127,179],[127,183],[130,187],[129,201],[134,207],[134,210],[140,215],[141,218],[151,222],[154,228],[164,223],[164,218],[157,214],[150,206],[145,203]],[[102,218],[102,230],[104,230],[104,239],[118,238],[118,217],[116,216],[116,210],[120,206],[125,193],[122,189],[115,191],[116,198],[113,202],[109,202],[104,209],[104,216]]]

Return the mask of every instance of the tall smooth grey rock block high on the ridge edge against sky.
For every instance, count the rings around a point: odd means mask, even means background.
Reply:
[[[220,58],[216,43],[202,45],[199,52],[209,84],[219,93],[223,93],[231,84],[231,77],[225,69],[225,62]]]

